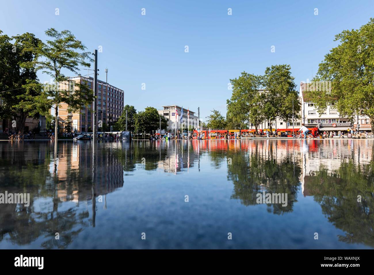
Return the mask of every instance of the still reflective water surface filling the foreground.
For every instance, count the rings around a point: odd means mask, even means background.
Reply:
[[[0,248],[373,248],[373,143],[2,142]]]

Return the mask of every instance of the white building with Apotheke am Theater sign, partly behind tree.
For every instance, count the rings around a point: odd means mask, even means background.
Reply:
[[[352,122],[348,117],[341,116],[334,102],[332,102],[324,112],[318,113],[315,109],[315,104],[307,95],[307,85],[309,85],[309,83],[300,84],[303,123],[309,127],[318,127],[320,131],[346,131],[349,128],[357,129],[357,117],[355,117]],[[369,117],[358,116],[358,122],[360,131],[371,131]]]

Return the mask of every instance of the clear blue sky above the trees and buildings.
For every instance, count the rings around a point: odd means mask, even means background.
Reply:
[[[101,45],[99,79],[108,67],[108,82],[125,91],[125,104],[200,107],[202,121],[213,109],[226,115],[230,78],[286,63],[295,83],[311,79],[336,45],[334,35],[374,16],[373,0],[0,0],[0,7],[0,30],[9,36],[30,32],[45,40],[53,27],[72,31],[90,51]]]

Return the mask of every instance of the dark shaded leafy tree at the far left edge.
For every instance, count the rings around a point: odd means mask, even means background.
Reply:
[[[35,54],[27,49],[37,47],[40,40],[30,33],[13,37],[1,33],[0,30],[0,117],[18,118],[17,126],[23,133],[27,117],[39,117],[39,114],[48,112],[47,107],[37,100],[42,92],[40,86],[25,86],[37,83],[35,68],[20,66],[24,62],[34,61]]]

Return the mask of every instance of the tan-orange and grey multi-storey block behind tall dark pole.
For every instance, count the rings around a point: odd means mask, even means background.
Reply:
[[[77,76],[70,79],[76,83],[88,85],[93,90],[93,78]],[[123,90],[119,89],[107,82],[98,80],[97,85],[97,120],[108,123],[108,119],[117,120],[122,114],[124,108]],[[91,104],[88,107],[82,106],[78,112],[69,113],[68,104],[61,104],[58,110],[60,131],[64,131],[66,122],[72,122],[73,131],[92,132],[93,112]],[[52,115],[55,110],[51,111]]]

